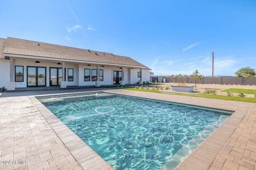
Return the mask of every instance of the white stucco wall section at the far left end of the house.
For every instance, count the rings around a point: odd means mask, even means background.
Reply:
[[[0,60],[0,87],[7,88],[10,81],[10,61]]]

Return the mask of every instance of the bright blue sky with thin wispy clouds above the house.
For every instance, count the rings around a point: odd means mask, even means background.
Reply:
[[[155,74],[256,69],[256,1],[0,1],[0,37],[110,52]]]

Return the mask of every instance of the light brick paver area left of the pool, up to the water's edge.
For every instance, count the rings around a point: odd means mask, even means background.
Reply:
[[[90,147],[35,97],[0,98],[0,116],[0,161],[10,161],[1,170],[112,168],[98,154],[95,163],[86,156],[80,158],[87,162],[77,159],[77,154],[87,153],[82,148]]]

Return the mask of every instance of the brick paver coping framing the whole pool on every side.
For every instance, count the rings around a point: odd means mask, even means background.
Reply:
[[[135,94],[131,94],[130,90],[100,90],[102,92],[109,92],[112,94],[119,94],[119,95],[126,95],[126,96],[132,96],[132,97],[142,97],[142,98],[147,98],[147,99],[157,99],[155,94],[152,96],[148,96],[148,94],[151,94],[149,92],[135,92]],[[90,147],[86,145],[86,143],[80,139],[73,131],[71,131],[63,122],[61,122],[53,113],[51,113],[40,101],[38,101],[35,97],[42,97],[42,96],[57,96],[57,95],[68,95],[68,94],[85,94],[85,93],[90,93],[90,92],[100,92],[100,91],[84,91],[84,92],[70,92],[70,93],[63,93],[63,94],[54,94],[54,95],[36,95],[36,96],[30,96],[30,99],[33,100],[33,103],[35,101],[35,105],[38,108],[38,111],[42,111],[41,113],[49,122],[49,124],[52,126],[53,130],[59,135],[60,139],[63,142],[68,144],[67,148],[70,150],[71,149],[71,154],[76,158],[77,156],[77,151],[82,151],[84,154],[87,153],[87,149]],[[146,95],[145,95],[146,94]],[[158,94],[157,96],[161,96],[163,94]],[[164,94],[165,95],[165,94]],[[170,95],[168,95],[170,97]],[[192,97],[193,98],[193,97]],[[220,103],[222,100],[218,99],[206,99],[209,101],[218,101],[217,103]],[[186,101],[186,102],[179,102],[174,99],[161,99],[161,101],[169,101],[172,103],[178,103],[178,104],[187,104],[187,105],[193,105],[193,106],[200,106],[200,107],[207,107],[207,105],[203,104],[198,104],[198,103],[193,103],[191,101]],[[239,101],[225,101],[226,103],[241,103]],[[248,104],[245,103],[249,106],[252,106],[253,104]],[[209,105],[209,104],[208,104]],[[212,105],[211,105],[212,106]],[[253,105],[254,106],[254,105]],[[223,149],[226,149],[225,146],[230,140],[231,135],[234,133],[236,130],[237,126],[239,123],[243,120],[245,114],[247,113],[246,106],[245,107],[209,107],[209,108],[214,108],[214,109],[222,109],[226,111],[235,111],[217,130],[215,130],[207,139],[205,139],[201,145],[199,145],[187,158],[185,158],[175,169],[176,170],[186,170],[186,169],[209,169],[214,160],[218,157],[220,152]],[[241,108],[241,109],[239,109]],[[52,119],[52,117],[55,117]],[[65,131],[63,132],[63,128],[65,128]],[[73,134],[71,134],[71,132]],[[71,141],[70,141],[71,140]],[[82,142],[81,142],[82,141]],[[76,146],[78,142],[79,147]],[[90,148],[91,149],[91,148]],[[86,151],[87,150],[87,151]],[[74,154],[73,154],[73,152]],[[92,150],[94,154],[97,154]],[[77,158],[76,158],[77,159]],[[95,158],[96,159],[96,158]],[[90,160],[90,159],[89,159]],[[103,164],[106,164],[107,166],[110,166],[105,160],[103,160],[98,154],[97,154],[97,160],[100,160]],[[86,165],[91,164],[90,163],[82,163],[81,160],[78,161],[78,163],[81,163],[82,167],[84,168]],[[113,167],[110,166],[110,168],[113,169]]]

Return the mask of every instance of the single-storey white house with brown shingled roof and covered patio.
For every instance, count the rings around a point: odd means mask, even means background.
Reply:
[[[0,38],[0,87],[96,86],[149,81],[130,57],[18,38]]]

